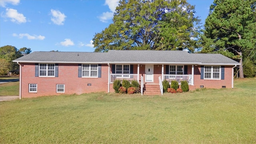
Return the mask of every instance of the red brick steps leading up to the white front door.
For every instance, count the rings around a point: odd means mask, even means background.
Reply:
[[[160,86],[156,83],[144,84],[144,95],[161,95]]]

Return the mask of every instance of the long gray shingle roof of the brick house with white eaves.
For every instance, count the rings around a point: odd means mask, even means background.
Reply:
[[[14,62],[59,63],[180,63],[180,64],[227,64],[238,62],[221,54],[189,54],[186,51],[156,50],[109,50],[101,52],[32,52]]]

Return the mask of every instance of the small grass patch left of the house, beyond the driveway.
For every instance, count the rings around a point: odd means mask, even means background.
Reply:
[[[19,82],[6,82],[0,84],[0,96],[18,96]]]

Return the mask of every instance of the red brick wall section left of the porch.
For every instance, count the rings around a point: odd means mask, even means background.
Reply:
[[[58,77],[35,77],[35,64],[22,64],[22,98],[59,94],[108,92],[108,65],[102,64],[101,78],[78,78],[78,64],[59,64]],[[37,92],[28,92],[29,84],[37,84]],[[56,84],[65,84],[65,93],[56,92]],[[92,84],[92,86],[87,86]]]

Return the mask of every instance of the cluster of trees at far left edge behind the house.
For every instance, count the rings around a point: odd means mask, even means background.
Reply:
[[[30,48],[20,48],[18,50],[15,46],[0,47],[0,75],[9,74],[9,72],[16,72],[19,69],[18,64],[12,62],[16,58],[20,58],[31,52]]]

